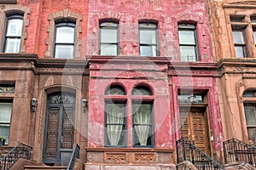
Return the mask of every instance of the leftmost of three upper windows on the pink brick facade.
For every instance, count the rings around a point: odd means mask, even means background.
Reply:
[[[101,55],[119,54],[119,25],[115,22],[100,23],[100,51]]]

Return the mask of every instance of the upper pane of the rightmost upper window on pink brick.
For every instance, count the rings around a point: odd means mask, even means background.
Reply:
[[[178,31],[180,44],[195,45],[195,32],[194,31]]]

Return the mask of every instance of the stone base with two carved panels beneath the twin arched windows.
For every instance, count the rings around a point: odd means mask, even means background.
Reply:
[[[176,169],[173,150],[149,148],[86,148],[86,170],[90,169]]]

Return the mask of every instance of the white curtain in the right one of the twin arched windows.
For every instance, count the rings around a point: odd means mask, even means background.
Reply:
[[[150,127],[150,105],[134,105],[134,128],[142,146],[147,145]]]

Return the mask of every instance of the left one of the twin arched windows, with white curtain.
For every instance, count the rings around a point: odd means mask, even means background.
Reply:
[[[115,147],[126,146],[125,89],[120,86],[110,86],[105,99],[105,145]],[[121,97],[121,98],[119,98]]]

